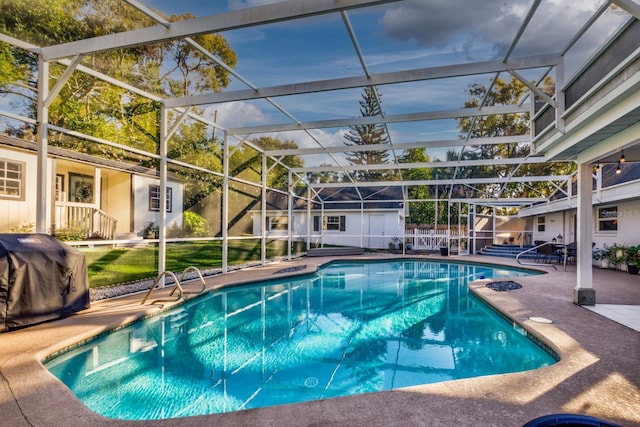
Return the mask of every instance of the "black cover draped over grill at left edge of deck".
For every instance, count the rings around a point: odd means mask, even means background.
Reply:
[[[0,328],[86,308],[89,278],[82,252],[48,234],[0,234]]]

